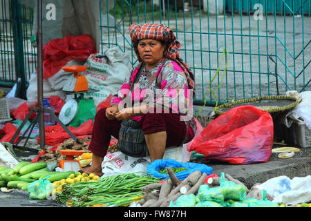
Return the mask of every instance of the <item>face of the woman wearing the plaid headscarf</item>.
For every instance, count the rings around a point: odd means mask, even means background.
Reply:
[[[149,68],[155,67],[164,57],[165,45],[155,39],[143,39],[138,43],[138,52]]]

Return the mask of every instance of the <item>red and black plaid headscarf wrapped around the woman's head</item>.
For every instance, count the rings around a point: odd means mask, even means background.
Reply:
[[[194,91],[194,73],[191,71],[189,66],[182,61],[179,56],[180,43],[177,41],[176,36],[173,31],[167,26],[156,24],[156,23],[140,23],[133,24],[129,28],[131,35],[131,40],[133,43],[133,48],[138,57],[138,61],[142,61],[138,53],[138,42],[142,39],[156,39],[158,41],[166,41],[167,49],[164,50],[164,57],[176,61],[177,64],[184,70],[187,81],[188,88]],[[195,91],[194,91],[195,93]]]

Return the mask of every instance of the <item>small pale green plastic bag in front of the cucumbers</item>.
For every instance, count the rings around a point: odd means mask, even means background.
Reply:
[[[54,186],[49,180],[46,180],[48,177],[50,177],[50,175],[28,185],[27,191],[29,192],[30,200],[45,200],[48,195],[50,195]]]

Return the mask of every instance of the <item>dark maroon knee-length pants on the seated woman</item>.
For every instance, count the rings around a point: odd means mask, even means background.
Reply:
[[[185,140],[187,133],[186,124],[180,116],[173,113],[147,113],[142,115],[140,126],[144,134],[167,132],[166,146],[179,146]],[[106,108],[100,109],[94,119],[91,143],[88,149],[104,157],[107,153],[111,135],[118,139],[121,122],[117,119],[110,120],[106,117]]]

